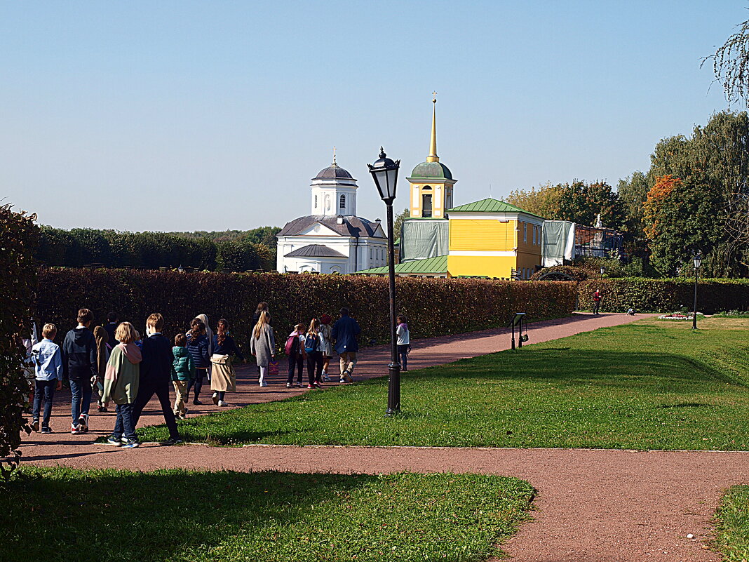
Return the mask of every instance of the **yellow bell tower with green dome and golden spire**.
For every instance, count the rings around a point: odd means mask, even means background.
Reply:
[[[413,169],[406,178],[410,184],[410,213],[413,218],[445,218],[452,208],[452,189],[457,180],[437,156],[437,92],[432,92],[431,139],[426,161]]]

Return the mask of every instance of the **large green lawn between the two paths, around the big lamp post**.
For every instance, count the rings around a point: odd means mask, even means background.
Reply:
[[[749,449],[749,320],[690,328],[643,320],[408,372],[394,419],[378,378],[194,417],[180,431],[218,445]],[[168,437],[163,426],[139,435]]]

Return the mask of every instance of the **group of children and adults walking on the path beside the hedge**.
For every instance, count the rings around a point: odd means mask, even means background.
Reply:
[[[303,369],[306,363],[307,388],[321,388],[330,381],[330,360],[333,351],[339,354],[341,383],[353,383],[354,366],[359,350],[360,326],[341,309],[341,318],[333,326],[333,318],[323,314],[312,318],[309,326],[297,324],[288,335],[285,353],[288,355],[286,387],[303,387]],[[276,340],[270,326],[267,303],[259,303],[255,312],[255,325],[250,335],[250,351],[258,365],[258,384],[267,386],[267,375],[276,362]],[[90,330],[93,315],[88,309],[78,312],[78,326],[70,330],[62,346],[53,340],[57,335],[54,324],[44,324],[43,338],[31,347],[30,363],[34,367],[34,396],[32,429],[51,433],[49,426],[55,390],[62,387],[63,378],[70,382],[71,417],[70,432],[88,432],[88,415],[94,390],[99,391],[99,411],[107,411],[114,402],[115,427],[109,435],[109,444],[139,447],[135,428],[143,408],[153,398],[159,399],[169,440],[166,444],[180,443],[176,420],[187,417],[187,402],[192,390],[192,404],[201,405],[198,398],[204,378],[209,378],[213,390],[213,404],[225,407],[225,393],[236,391],[236,373],[233,357],[243,360],[228,331],[228,322],[221,318],[216,333],[210,330],[206,315],[198,315],[190,322],[187,333],[175,336],[174,345],[163,336],[164,318],[151,314],[146,321],[145,338],[141,338],[133,324],[118,323],[117,315],[110,313],[108,323]],[[403,370],[407,370],[407,351],[410,335],[404,316],[398,316],[398,354]],[[111,342],[111,343],[110,343]],[[297,380],[294,381],[294,375]],[[170,384],[171,382],[171,384]],[[170,387],[175,389],[175,402],[170,400]],[[40,423],[40,410],[44,402]]]

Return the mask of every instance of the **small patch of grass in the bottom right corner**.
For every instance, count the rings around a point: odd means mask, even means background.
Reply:
[[[749,560],[749,486],[733,486],[716,515],[716,546],[727,562]]]

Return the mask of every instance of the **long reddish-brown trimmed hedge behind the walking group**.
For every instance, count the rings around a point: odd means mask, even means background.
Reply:
[[[527,312],[531,320],[560,317],[572,312],[576,299],[566,282],[398,278],[397,285],[398,312],[408,316],[414,338],[505,326],[513,312]],[[227,318],[246,349],[261,300],[270,304],[279,348],[294,324],[326,312],[337,318],[341,306],[359,321],[362,345],[389,341],[388,284],[376,277],[42,268],[34,316],[57,324],[62,338],[82,306],[96,322],[112,310],[140,331],[151,312],[161,312],[164,333],[172,337],[204,313],[211,327]]]

